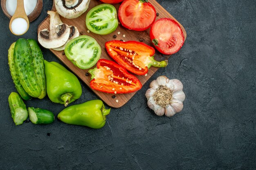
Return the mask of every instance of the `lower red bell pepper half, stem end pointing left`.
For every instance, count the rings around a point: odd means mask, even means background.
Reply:
[[[130,93],[142,87],[139,79],[128,73],[123,66],[106,59],[100,59],[89,73],[92,74],[90,86],[101,92]]]

